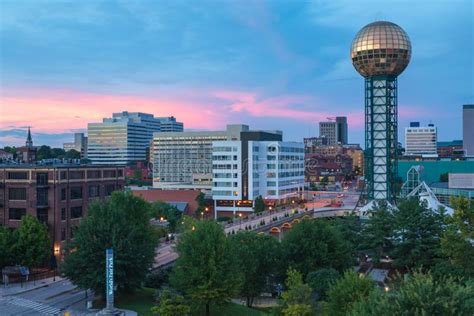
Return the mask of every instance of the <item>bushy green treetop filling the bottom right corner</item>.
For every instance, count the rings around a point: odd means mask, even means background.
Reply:
[[[474,314],[474,285],[430,273],[415,272],[389,293],[373,291],[353,305],[350,315],[434,315]]]

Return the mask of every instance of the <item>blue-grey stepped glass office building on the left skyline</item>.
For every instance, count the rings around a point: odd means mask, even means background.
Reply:
[[[139,112],[114,113],[102,123],[88,124],[87,158],[92,164],[126,165],[147,159],[154,132],[181,132],[174,117],[154,117]]]

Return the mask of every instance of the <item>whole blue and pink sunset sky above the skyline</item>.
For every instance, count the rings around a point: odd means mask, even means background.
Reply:
[[[474,103],[474,1],[0,1],[0,147],[61,146],[113,112],[175,116],[185,129],[317,136],[347,116],[364,140],[364,80],[352,39],[400,25],[412,59],[398,78],[399,140],[410,121],[462,138]]]

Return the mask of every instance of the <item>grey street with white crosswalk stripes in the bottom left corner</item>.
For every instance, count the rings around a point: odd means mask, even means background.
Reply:
[[[68,280],[17,295],[0,297],[0,315],[59,315],[61,311],[84,301],[85,292]]]

